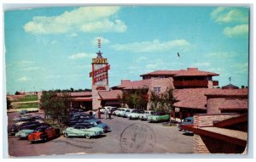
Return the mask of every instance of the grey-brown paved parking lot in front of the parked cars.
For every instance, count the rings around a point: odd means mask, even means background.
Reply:
[[[9,113],[9,120],[18,113]],[[108,124],[112,131],[103,134],[100,137],[85,139],[84,137],[57,137],[49,142],[40,142],[30,144],[27,140],[20,140],[17,137],[9,136],[9,156],[38,156],[52,154],[125,154],[125,153],[193,153],[193,136],[183,135],[182,131],[177,131],[177,126],[162,126],[161,123],[148,123],[148,121],[129,120],[127,118],[112,116],[112,119],[101,119],[102,122]],[[9,125],[11,122],[9,122]],[[143,149],[135,148],[132,152],[127,152],[124,147],[130,147],[136,139],[131,138],[131,141],[124,143],[124,134],[133,131],[134,126],[146,126],[147,133],[151,133],[154,142],[147,144],[144,141]],[[136,128],[136,127],[134,127]],[[147,130],[146,130],[147,131]],[[144,132],[145,134],[145,132]],[[136,132],[136,136],[139,133]],[[138,137],[138,136],[137,136]],[[140,139],[142,139],[141,137]],[[126,141],[125,141],[126,142]],[[147,148],[145,148],[147,147]],[[144,151],[143,151],[144,150]]]

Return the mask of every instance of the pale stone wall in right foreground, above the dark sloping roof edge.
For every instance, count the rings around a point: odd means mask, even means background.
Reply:
[[[213,126],[214,121],[227,120],[236,116],[239,114],[194,115],[194,127]]]

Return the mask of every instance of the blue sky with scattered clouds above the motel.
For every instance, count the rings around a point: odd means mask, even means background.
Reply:
[[[197,67],[247,86],[248,8],[35,8],[4,14],[7,92],[90,88],[102,37],[110,87],[154,70]],[[177,59],[177,52],[180,59]]]

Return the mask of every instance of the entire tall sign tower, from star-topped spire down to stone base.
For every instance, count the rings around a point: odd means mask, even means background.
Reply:
[[[98,91],[108,91],[108,70],[110,65],[108,59],[102,57],[101,52],[102,40],[98,38],[98,48],[96,58],[92,59],[90,77],[92,78],[92,109],[98,109],[102,107],[100,96]]]

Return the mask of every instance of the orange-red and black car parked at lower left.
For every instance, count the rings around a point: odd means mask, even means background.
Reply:
[[[31,143],[38,141],[46,142],[49,139],[58,137],[59,135],[60,130],[55,129],[52,126],[39,126],[32,132],[32,134],[28,135],[27,139]]]

